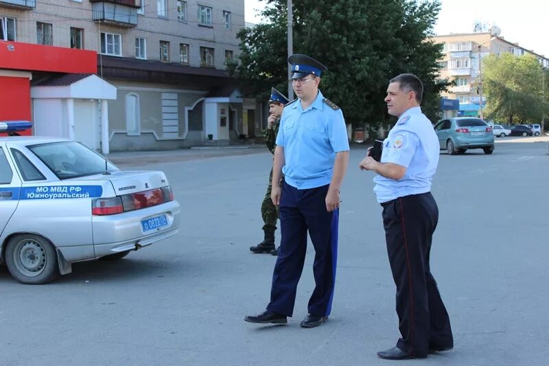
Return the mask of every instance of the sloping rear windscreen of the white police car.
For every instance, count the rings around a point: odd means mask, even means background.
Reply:
[[[118,170],[115,165],[106,163],[97,152],[75,141],[30,145],[27,148],[61,180],[101,174],[105,168],[109,172]]]

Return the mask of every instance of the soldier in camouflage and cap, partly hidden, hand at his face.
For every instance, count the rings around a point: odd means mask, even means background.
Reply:
[[[265,131],[265,144],[267,148],[274,155],[274,148],[277,141],[277,133],[279,132],[279,122],[284,110],[284,106],[288,104],[288,98],[277,89],[272,88],[269,99],[269,118],[267,120],[267,130]],[[269,175],[269,185],[267,192],[261,203],[261,217],[263,218],[263,231],[264,240],[254,247],[250,247],[250,251],[253,253],[271,253],[272,255],[278,255],[278,249],[274,246],[274,231],[277,230],[277,220],[279,218],[278,207],[272,203],[270,198],[272,180],[272,168]]]

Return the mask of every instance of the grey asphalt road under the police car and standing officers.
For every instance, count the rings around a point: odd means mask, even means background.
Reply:
[[[455,347],[400,364],[547,363],[548,140],[496,141],[493,155],[441,153],[431,266]],[[19,284],[1,268],[0,365],[393,363],[375,354],[399,334],[373,174],[357,168],[364,152],[351,151],[342,187],[336,293],[325,325],[299,327],[314,286],[310,245],[289,324],[243,321],[264,310],[270,293],[275,258],[248,251],[262,238],[270,153],[119,154],[110,158],[121,168],[166,172],[182,206],[180,233],[119,262],[75,264],[43,286]]]

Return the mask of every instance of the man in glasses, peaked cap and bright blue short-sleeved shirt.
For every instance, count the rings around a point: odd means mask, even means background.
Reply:
[[[271,191],[273,203],[279,205],[281,244],[267,310],[244,320],[286,323],[292,317],[308,232],[316,253],[316,286],[301,326],[314,328],[327,321],[334,296],[339,191],[349,161],[349,141],[340,108],[318,90],[320,73],[326,67],[299,54],[290,56],[288,62],[298,99],[282,113]],[[281,172],[284,179],[279,185]]]

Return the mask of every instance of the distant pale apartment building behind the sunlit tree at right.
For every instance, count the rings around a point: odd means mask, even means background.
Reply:
[[[549,67],[549,59],[533,50],[520,47],[518,43],[507,41],[504,37],[495,36],[493,32],[448,34],[434,36],[436,43],[443,43],[443,59],[439,61],[441,78],[454,80],[456,85],[443,93],[443,98],[459,100],[458,115],[478,115],[480,94],[478,85],[482,77],[482,60],[489,54],[500,55],[509,52],[516,56],[533,54],[541,65]],[[482,96],[483,106],[486,98]]]

